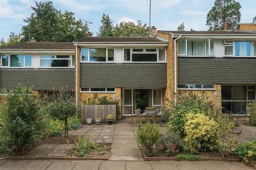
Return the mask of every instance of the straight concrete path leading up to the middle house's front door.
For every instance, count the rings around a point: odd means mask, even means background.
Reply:
[[[130,120],[120,120],[115,126],[109,160],[142,160]]]

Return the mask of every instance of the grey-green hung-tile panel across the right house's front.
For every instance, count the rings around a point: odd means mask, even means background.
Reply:
[[[256,84],[256,58],[178,57],[178,83]]]

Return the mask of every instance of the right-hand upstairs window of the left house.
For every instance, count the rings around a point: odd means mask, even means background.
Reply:
[[[41,55],[40,67],[71,67],[73,61],[70,55]]]

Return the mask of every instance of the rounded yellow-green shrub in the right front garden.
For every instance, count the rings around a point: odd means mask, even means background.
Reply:
[[[212,150],[220,141],[219,124],[204,114],[186,115],[185,141],[197,151]]]

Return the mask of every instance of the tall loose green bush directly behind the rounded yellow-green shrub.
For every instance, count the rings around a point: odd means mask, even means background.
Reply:
[[[211,101],[207,100],[208,98],[205,92],[198,96],[192,92],[182,91],[178,92],[176,104],[167,99],[168,106],[171,108],[169,115],[171,119],[166,127],[170,131],[179,133],[184,138],[186,136],[184,129],[186,115],[188,113],[207,113],[212,111],[213,105]]]

